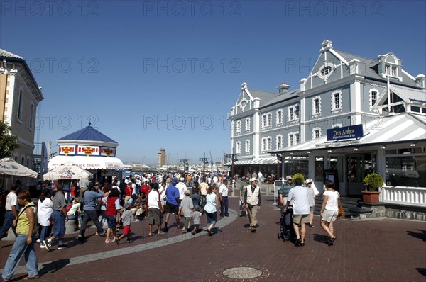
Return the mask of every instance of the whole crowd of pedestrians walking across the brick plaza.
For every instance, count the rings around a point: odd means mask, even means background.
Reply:
[[[256,232],[257,215],[261,208],[261,186],[259,177],[247,174],[239,187],[239,216],[249,219],[249,230]],[[70,198],[65,196],[62,184],[52,188],[50,181],[43,182],[37,205],[31,202],[28,190],[16,193],[13,185],[6,198],[6,215],[0,228],[0,239],[9,228],[17,239],[4,267],[2,277],[8,281],[21,259],[25,255],[28,276],[26,279],[38,277],[37,257],[34,242],[40,249],[50,251],[58,241],[58,249],[67,247],[63,242],[65,225],[69,220],[75,222],[79,230],[77,239],[80,244],[87,242],[85,232],[87,223],[92,221],[97,228],[97,235],[105,237],[106,244],[120,244],[122,239],[133,242],[131,222],[148,219],[148,236],[166,235],[170,227],[170,215],[173,215],[176,227],[182,233],[200,232],[200,218],[207,218],[207,235],[214,235],[214,226],[220,217],[229,216],[228,177],[227,174],[141,174],[130,175],[122,179],[114,177],[112,183],[103,184],[91,181],[87,187],[72,182]],[[191,189],[188,189],[191,187]],[[332,245],[334,235],[333,222],[337,219],[340,203],[339,193],[333,184],[328,183],[324,192],[321,208],[321,227],[329,236],[327,244]],[[279,200],[283,203],[282,213],[289,205],[293,205],[293,227],[296,235],[296,246],[305,245],[306,227],[314,227],[313,210],[315,195],[319,192],[311,179],[302,186],[300,179],[286,177],[286,181],[278,191]],[[81,213],[84,215],[81,217]],[[181,220],[182,218],[182,220]],[[132,220],[133,219],[133,220]],[[81,220],[81,224],[80,224]],[[173,219],[172,219],[173,220]],[[104,223],[107,222],[107,230]],[[192,225],[191,225],[192,222]],[[119,235],[119,228],[122,234]],[[38,239],[36,239],[38,237]],[[35,240],[36,239],[36,240]]]

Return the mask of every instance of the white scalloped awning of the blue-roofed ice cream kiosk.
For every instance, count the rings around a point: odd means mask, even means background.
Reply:
[[[67,162],[73,162],[82,169],[124,169],[124,164],[119,158],[87,156],[55,156],[50,159],[48,163],[48,169],[54,169],[55,167],[58,167],[61,164],[65,164]]]

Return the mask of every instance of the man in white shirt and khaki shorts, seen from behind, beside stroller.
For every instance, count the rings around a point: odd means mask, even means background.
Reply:
[[[287,207],[290,201],[293,201],[293,228],[296,233],[296,246],[305,246],[306,224],[309,223],[309,193],[307,188],[302,186],[300,179],[295,179],[296,186],[288,192],[287,203],[284,213],[287,212]],[[302,234],[300,235],[299,226],[301,226]]]

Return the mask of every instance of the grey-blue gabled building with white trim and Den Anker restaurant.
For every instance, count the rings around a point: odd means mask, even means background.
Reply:
[[[397,202],[425,205],[424,74],[413,77],[393,53],[370,59],[324,40],[308,77],[290,87],[272,93],[241,86],[230,115],[236,173],[300,172],[318,187],[334,171],[340,193],[359,196],[366,174],[376,171],[387,187],[408,189]]]

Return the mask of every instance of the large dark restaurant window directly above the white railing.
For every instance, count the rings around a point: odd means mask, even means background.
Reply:
[[[407,154],[408,150],[401,152]],[[426,154],[409,154],[386,155],[386,185],[426,187]]]

